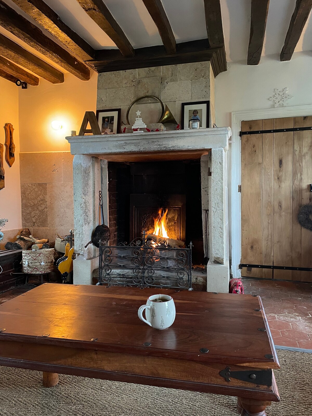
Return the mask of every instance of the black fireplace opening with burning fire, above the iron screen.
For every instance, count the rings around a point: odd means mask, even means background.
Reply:
[[[155,243],[188,247],[203,264],[200,160],[109,162],[110,245],[131,242],[143,231]]]

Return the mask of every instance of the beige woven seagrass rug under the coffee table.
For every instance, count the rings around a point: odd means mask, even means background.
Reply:
[[[312,354],[277,351],[280,403],[267,416],[312,415]],[[215,394],[59,376],[42,386],[42,373],[0,367],[1,416],[237,416],[236,398]]]

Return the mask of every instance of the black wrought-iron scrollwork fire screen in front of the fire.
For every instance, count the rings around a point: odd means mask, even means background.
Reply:
[[[136,238],[130,244],[100,246],[98,285],[192,290],[192,243],[172,248]]]

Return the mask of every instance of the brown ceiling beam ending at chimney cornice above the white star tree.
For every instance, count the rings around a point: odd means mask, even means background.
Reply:
[[[108,35],[124,56],[133,56],[134,49],[103,0],[77,0],[84,11]],[[121,8],[122,12],[122,8]]]

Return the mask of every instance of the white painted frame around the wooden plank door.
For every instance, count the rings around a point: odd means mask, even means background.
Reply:
[[[240,278],[241,272],[238,268],[241,259],[241,211],[240,193],[238,185],[241,184],[241,158],[240,158],[240,124],[244,120],[277,119],[281,117],[300,117],[312,115],[312,104],[270,108],[266,110],[235,111],[232,113],[232,146],[231,146],[231,192],[229,205],[231,207],[231,245],[233,277]]]

